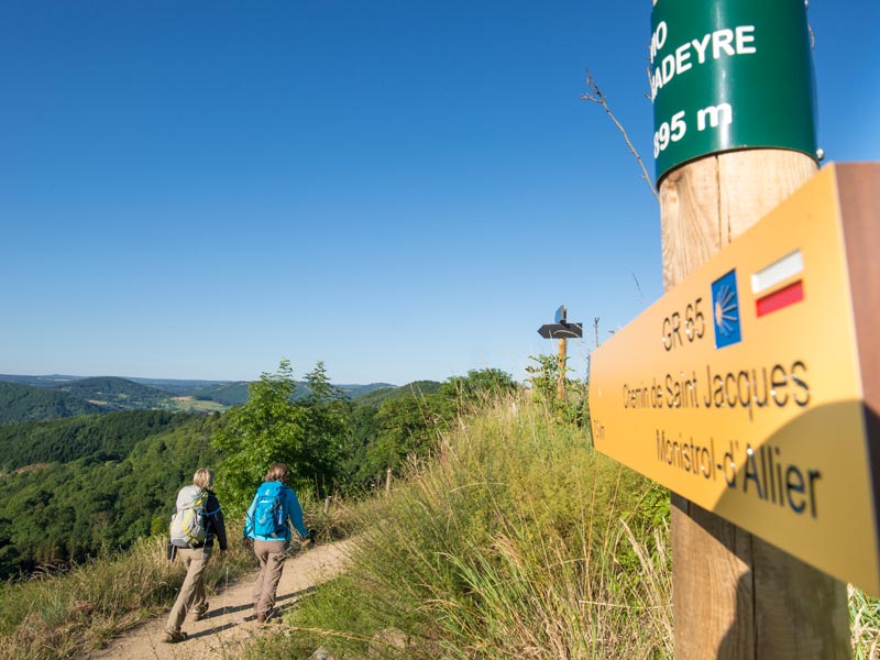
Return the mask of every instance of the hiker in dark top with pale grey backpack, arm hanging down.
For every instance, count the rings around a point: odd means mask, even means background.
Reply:
[[[227,549],[227,528],[223,512],[217,495],[211,491],[213,470],[200,468],[193,475],[193,485],[184,486],[177,493],[177,510],[172,517],[172,558],[179,554],[186,565],[186,579],[177,594],[177,601],[168,615],[168,623],[162,641],[176,644],[186,639],[180,630],[188,612],[193,619],[199,620],[208,612],[205,600],[205,569],[213,551],[213,542],[220,550]]]

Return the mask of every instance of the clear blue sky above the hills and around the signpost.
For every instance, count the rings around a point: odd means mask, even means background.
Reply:
[[[880,160],[876,0],[814,0],[818,143]],[[522,378],[660,297],[650,2],[0,3],[0,373]]]

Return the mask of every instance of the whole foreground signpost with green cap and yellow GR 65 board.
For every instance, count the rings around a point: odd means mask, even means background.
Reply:
[[[814,178],[802,0],[651,22],[668,293],[593,354],[594,442],[673,491],[676,659],[849,658],[843,580],[880,582],[880,166]]]

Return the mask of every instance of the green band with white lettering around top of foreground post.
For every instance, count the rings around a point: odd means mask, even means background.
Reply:
[[[678,165],[723,151],[816,157],[804,0],[658,0],[651,29],[658,183]]]

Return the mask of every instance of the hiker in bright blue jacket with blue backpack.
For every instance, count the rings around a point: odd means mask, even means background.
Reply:
[[[244,519],[244,546],[253,546],[260,560],[260,574],[251,598],[260,624],[271,618],[275,607],[275,592],[290,547],[290,522],[302,540],[309,539],[302,525],[299,499],[292,488],[284,485],[288,473],[284,463],[275,463],[268,469]]]

